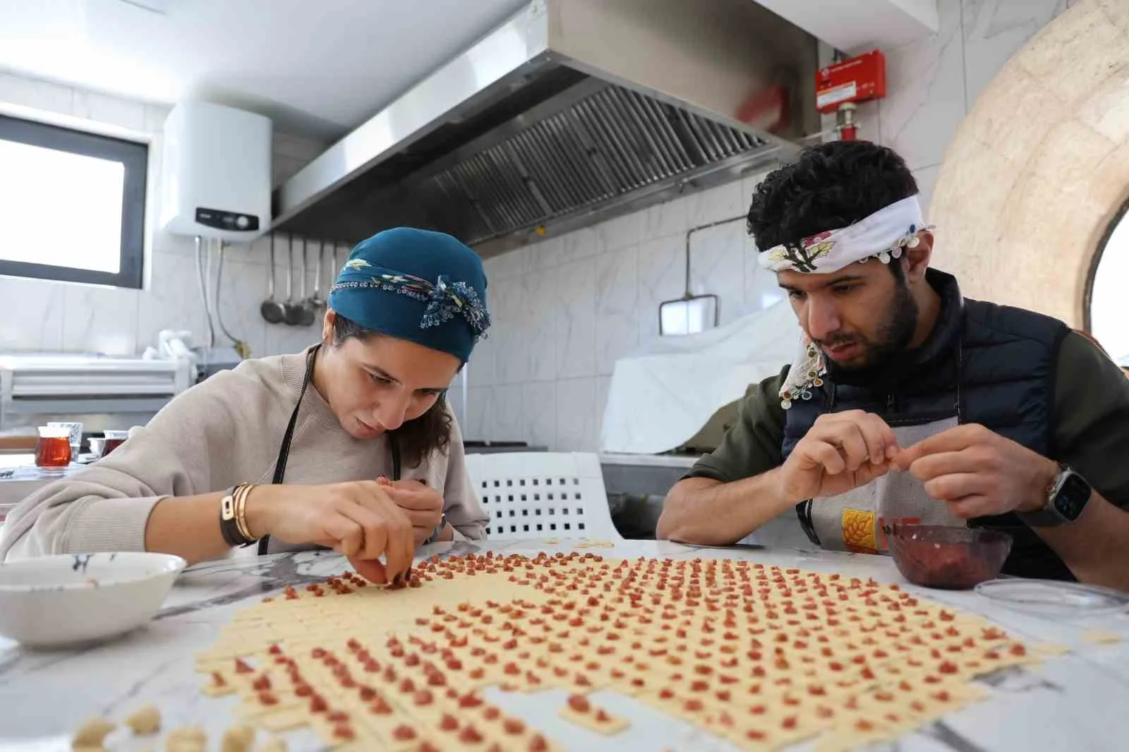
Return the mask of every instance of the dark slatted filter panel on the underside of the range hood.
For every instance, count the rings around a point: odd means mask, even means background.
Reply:
[[[420,183],[431,224],[481,243],[665,183],[769,143],[607,86]],[[445,217],[460,207],[457,217]]]

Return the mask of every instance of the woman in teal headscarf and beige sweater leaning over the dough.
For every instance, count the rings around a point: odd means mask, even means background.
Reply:
[[[481,260],[449,235],[370,237],[331,289],[318,344],[176,396],[113,454],[25,499],[0,560],[323,545],[384,582],[418,544],[484,537],[444,394],[490,325],[485,291]]]

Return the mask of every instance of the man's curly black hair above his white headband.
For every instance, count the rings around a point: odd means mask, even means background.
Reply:
[[[913,173],[892,149],[831,141],[804,149],[756,186],[749,234],[758,251],[767,251],[846,227],[917,192]]]

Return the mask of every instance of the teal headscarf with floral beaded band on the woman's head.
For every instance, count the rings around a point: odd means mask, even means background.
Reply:
[[[329,305],[365,329],[463,362],[490,326],[482,260],[444,233],[397,227],[358,243]]]

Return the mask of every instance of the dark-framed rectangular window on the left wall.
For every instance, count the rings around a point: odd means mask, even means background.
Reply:
[[[0,115],[0,274],[140,288],[148,156]]]

